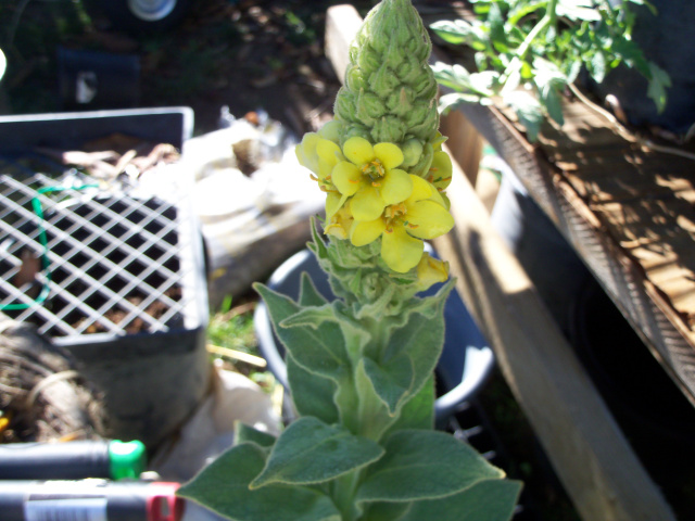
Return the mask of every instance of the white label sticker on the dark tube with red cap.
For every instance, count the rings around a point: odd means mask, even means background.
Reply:
[[[29,499],[25,521],[106,521],[105,497]]]

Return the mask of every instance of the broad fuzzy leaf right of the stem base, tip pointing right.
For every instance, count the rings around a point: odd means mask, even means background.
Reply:
[[[468,444],[444,432],[397,431],[383,446],[387,454],[368,469],[358,501],[434,499],[504,476]]]

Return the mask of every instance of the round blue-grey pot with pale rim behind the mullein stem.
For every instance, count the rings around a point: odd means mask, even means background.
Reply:
[[[294,254],[278,267],[271,275],[268,287],[298,298],[303,271],[308,274],[324,297],[336,298],[328,276],[308,250]],[[434,294],[439,287],[440,284],[430,288],[424,295]],[[444,306],[444,350],[437,367],[438,389],[441,394],[434,404],[438,424],[443,424],[464,402],[470,399],[482,387],[494,366],[493,352],[456,290],[452,291]],[[273,331],[264,303],[256,307],[254,328],[260,351],[268,361],[268,368],[282,385],[289,389],[283,359],[285,347]]]

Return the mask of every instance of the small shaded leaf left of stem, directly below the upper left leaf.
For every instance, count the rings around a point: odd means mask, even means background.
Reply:
[[[285,361],[296,411],[302,416],[315,416],[329,424],[337,423],[340,415],[333,401],[334,381],[312,374],[294,361],[291,355],[287,356]]]

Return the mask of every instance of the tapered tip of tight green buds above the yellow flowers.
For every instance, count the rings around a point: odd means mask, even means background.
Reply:
[[[340,144],[370,127],[371,142],[433,138],[437,82],[427,64],[432,45],[409,0],[383,0],[365,17],[350,49],[336,114],[345,123]],[[434,106],[434,111],[431,109]]]

